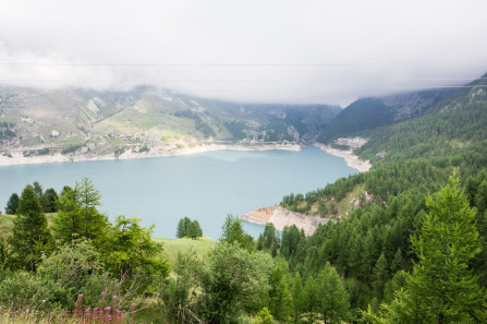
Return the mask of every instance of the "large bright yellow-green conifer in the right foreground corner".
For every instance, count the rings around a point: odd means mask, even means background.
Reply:
[[[482,308],[477,277],[468,262],[479,252],[475,209],[459,188],[458,170],[450,183],[428,196],[429,209],[421,235],[411,238],[418,257],[404,289],[378,315],[369,310],[364,317],[381,323],[473,323]]]

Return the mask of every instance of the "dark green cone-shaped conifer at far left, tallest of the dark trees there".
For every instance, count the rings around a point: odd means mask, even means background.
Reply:
[[[49,248],[51,235],[39,200],[32,185],[25,187],[19,201],[9,244],[15,265],[36,272],[42,253]]]

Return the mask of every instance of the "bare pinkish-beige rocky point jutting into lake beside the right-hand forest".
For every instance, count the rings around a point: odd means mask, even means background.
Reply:
[[[305,214],[291,212],[281,206],[264,207],[239,216],[239,218],[258,225],[272,223],[279,230],[283,230],[285,226],[295,225],[297,228],[304,229],[306,236],[313,235],[316,228],[318,228],[319,224],[326,224],[330,220],[319,216],[308,216]]]

